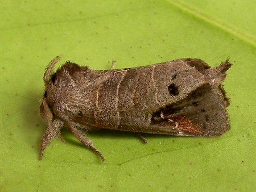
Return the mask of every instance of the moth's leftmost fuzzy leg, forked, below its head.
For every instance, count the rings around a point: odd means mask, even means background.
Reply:
[[[40,147],[40,160],[43,158],[44,149],[46,149],[47,145],[51,143],[51,140],[55,137],[58,137],[58,139],[61,140],[62,143],[65,144],[65,140],[60,135],[60,127],[63,126],[63,122],[59,119],[53,120],[53,122],[48,123],[48,128],[46,132],[44,132],[44,135],[41,140],[41,147]]]

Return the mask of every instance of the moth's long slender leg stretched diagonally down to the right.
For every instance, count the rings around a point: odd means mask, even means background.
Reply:
[[[80,140],[81,143],[83,143],[84,145],[86,145],[87,147],[92,149],[93,152],[97,153],[101,157],[101,161],[105,161],[104,156],[101,154],[100,151],[98,151],[98,149],[93,147],[92,140],[90,140],[88,137],[86,137],[84,135],[84,132],[77,130],[77,128],[75,128],[75,126],[72,126],[70,123],[68,123],[68,127],[71,130],[71,132],[75,135],[76,139]]]

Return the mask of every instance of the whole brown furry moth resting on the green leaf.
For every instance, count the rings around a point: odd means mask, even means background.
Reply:
[[[93,70],[71,61],[44,73],[40,114],[48,128],[40,159],[51,139],[67,127],[96,152],[86,132],[99,128],[176,136],[220,136],[229,130],[229,99],[221,83],[232,64],[210,68],[200,59],[178,59],[129,69]],[[141,138],[146,141],[142,136]]]

